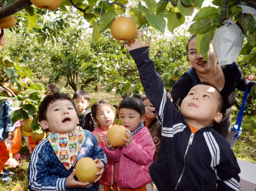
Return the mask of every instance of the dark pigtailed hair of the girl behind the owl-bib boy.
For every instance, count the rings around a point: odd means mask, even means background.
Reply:
[[[110,105],[110,103],[106,100],[100,100],[98,102],[96,102],[94,105],[91,106],[91,112],[87,113],[87,115],[85,116],[85,124],[86,124],[86,128],[88,131],[94,131],[94,120],[96,120],[96,115],[98,112],[98,108],[102,105],[102,104],[106,104],[109,106],[109,108],[112,108],[112,106],[114,108],[116,108],[117,110],[117,114],[115,116],[115,118],[119,117],[119,106],[118,105]],[[113,110],[114,111],[114,110]]]

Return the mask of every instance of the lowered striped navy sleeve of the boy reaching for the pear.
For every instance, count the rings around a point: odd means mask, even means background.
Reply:
[[[212,132],[204,132],[203,136],[211,153],[211,168],[217,177],[217,191],[241,191],[240,177],[238,176],[240,168],[230,146],[225,140],[221,140],[226,144],[224,144],[224,148],[220,147],[216,140],[218,138],[215,139]]]

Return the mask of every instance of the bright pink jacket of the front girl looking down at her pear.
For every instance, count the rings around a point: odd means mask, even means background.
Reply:
[[[147,127],[132,137],[128,148],[109,150],[104,147],[107,158],[116,162],[115,179],[120,188],[137,189],[151,183],[149,165],[153,162],[155,145]]]

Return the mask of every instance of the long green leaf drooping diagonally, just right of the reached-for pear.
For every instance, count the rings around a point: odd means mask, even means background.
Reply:
[[[138,4],[139,11],[143,12],[146,17],[147,17],[147,22],[152,26],[155,30],[160,31],[162,34],[165,32],[166,28],[166,20],[165,18],[158,16],[158,15],[153,15],[151,14],[145,6],[143,6],[140,1]]]

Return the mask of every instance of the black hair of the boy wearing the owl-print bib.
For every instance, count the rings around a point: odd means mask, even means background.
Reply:
[[[72,105],[74,106],[74,108],[75,108],[76,114],[78,115],[76,107],[75,107],[75,102],[73,101],[72,98],[70,98],[67,94],[60,93],[60,92],[54,92],[51,95],[47,95],[38,107],[39,123],[42,120],[47,120],[46,112],[47,112],[49,104],[51,104],[55,101],[58,101],[58,100],[68,100],[68,101],[70,101],[72,103]]]

